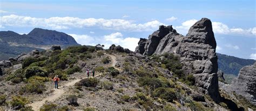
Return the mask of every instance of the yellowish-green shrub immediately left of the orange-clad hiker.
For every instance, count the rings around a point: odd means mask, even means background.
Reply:
[[[33,82],[33,83],[29,83],[26,84],[25,86],[22,86],[21,89],[19,90],[20,94],[23,93],[38,93],[41,94],[43,93],[43,91],[45,90],[45,85],[44,83],[41,82]]]

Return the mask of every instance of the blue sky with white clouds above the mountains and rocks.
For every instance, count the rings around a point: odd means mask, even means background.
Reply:
[[[64,32],[81,45],[134,50],[159,25],[186,35],[201,18],[212,21],[217,52],[256,60],[254,0],[0,0],[0,30],[28,34],[39,27]]]

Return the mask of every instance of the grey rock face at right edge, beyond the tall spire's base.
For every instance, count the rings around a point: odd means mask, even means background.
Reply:
[[[242,95],[256,105],[256,62],[253,65],[244,66],[231,85],[225,87],[226,91]]]

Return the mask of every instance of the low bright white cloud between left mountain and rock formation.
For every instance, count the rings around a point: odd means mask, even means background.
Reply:
[[[73,36],[73,38],[81,45],[91,45],[95,46],[98,43],[101,45],[105,45],[105,48],[109,48],[112,44],[120,45],[124,48],[128,48],[132,51],[135,50],[138,45],[138,38],[123,38],[123,34],[120,32],[112,33],[109,35],[93,37],[90,35],[77,35],[77,34],[69,34]]]

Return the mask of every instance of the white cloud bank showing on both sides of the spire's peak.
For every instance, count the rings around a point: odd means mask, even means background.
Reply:
[[[187,33],[188,29],[192,25],[194,25],[198,20],[191,19],[184,21],[181,26],[177,26],[174,28],[179,29],[178,32]],[[214,33],[217,34],[242,34],[242,35],[256,35],[256,27],[249,28],[249,29],[242,29],[242,28],[229,28],[226,24],[220,22],[212,22],[212,29]]]

